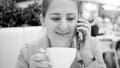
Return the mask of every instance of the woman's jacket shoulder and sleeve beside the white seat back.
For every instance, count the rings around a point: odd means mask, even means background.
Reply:
[[[41,40],[35,41],[34,43],[26,43],[20,50],[16,66],[27,67],[29,65],[31,56],[37,52],[39,45],[41,47],[40,43]]]

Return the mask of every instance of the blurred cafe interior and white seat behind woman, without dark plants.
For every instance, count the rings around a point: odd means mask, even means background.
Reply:
[[[42,0],[16,0],[18,8]],[[91,24],[91,35],[98,38],[107,68],[120,68],[120,0],[78,0],[81,17]],[[94,25],[98,29],[95,30]],[[21,47],[43,36],[41,25],[0,26],[0,68],[14,68]]]

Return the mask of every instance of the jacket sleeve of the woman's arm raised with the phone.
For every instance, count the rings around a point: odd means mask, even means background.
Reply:
[[[94,41],[96,41],[96,42],[94,42]],[[104,60],[103,60],[103,54],[102,54],[102,51],[100,50],[100,47],[99,47],[100,42],[97,38],[94,41],[93,41],[93,43],[95,43],[95,44],[92,45],[93,56],[95,57],[99,68],[106,68],[106,65],[105,65]]]

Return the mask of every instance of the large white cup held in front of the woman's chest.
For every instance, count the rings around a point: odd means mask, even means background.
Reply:
[[[70,68],[76,57],[75,48],[52,47],[47,48],[52,68]]]

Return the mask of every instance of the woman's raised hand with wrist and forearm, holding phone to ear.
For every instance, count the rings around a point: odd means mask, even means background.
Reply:
[[[80,20],[80,23],[77,23],[77,31],[80,31],[83,36],[83,41],[78,45],[80,46],[79,54],[85,66],[88,66],[93,58],[91,52],[91,25],[85,20]]]

